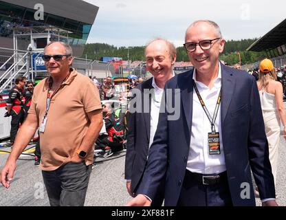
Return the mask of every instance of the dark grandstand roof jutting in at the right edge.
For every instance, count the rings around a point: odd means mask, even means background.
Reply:
[[[255,41],[247,50],[266,52],[286,44],[286,19]]]

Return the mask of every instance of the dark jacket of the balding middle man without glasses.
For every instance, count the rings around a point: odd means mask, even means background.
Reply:
[[[176,74],[175,74],[176,75]],[[135,107],[140,111],[130,113],[128,117],[127,148],[125,157],[125,179],[131,179],[132,192],[136,194],[140,186],[148,160],[150,128],[151,128],[151,89],[153,78],[146,80],[133,89],[133,98],[140,96],[140,104],[135,102]],[[146,103],[148,102],[148,103]],[[132,102],[131,102],[132,104]],[[137,104],[137,106],[136,106]],[[159,190],[153,197],[152,206],[162,206],[164,200],[164,179],[159,184]]]

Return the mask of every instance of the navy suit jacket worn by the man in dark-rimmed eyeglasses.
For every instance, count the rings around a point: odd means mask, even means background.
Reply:
[[[193,70],[179,74],[165,85],[165,90],[171,89],[172,97],[179,89],[179,119],[168,120],[171,113],[160,113],[146,171],[137,190],[153,199],[166,175],[165,206],[177,205],[186,172],[194,92],[192,74]],[[261,199],[275,198],[259,91],[253,76],[221,65],[221,92],[221,132],[232,203],[255,206],[250,169]],[[245,198],[245,189],[250,197]]]

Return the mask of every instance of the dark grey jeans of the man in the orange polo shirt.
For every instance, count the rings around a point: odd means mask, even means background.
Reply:
[[[42,170],[51,206],[83,206],[91,173],[85,162],[69,162],[52,171]]]

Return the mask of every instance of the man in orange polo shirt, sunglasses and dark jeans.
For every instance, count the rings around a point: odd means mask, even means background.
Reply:
[[[49,78],[34,88],[32,104],[13,150],[1,171],[9,188],[16,161],[39,127],[43,180],[51,206],[83,206],[102,127],[102,107],[92,80],[72,65],[72,48],[49,43],[43,60]],[[84,86],[83,86],[84,85]]]

